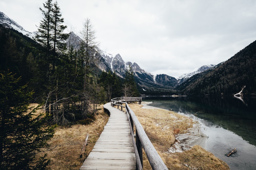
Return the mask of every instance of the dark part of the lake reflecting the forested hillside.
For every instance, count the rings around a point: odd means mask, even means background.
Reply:
[[[242,100],[241,100],[242,99]],[[144,97],[151,106],[195,114],[209,126],[223,127],[256,146],[255,97]]]

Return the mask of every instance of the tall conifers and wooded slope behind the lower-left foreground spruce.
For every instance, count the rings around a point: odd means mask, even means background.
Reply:
[[[21,77],[18,86],[27,84],[25,90],[33,91],[30,102],[42,104],[49,124],[66,126],[93,119],[100,103],[139,96],[132,70],[126,70],[122,79],[102,71],[99,61],[104,59],[97,51],[90,19],[83,23],[79,45],[67,45],[73,34],[64,33],[67,26],[58,3],[47,0],[43,5],[36,41],[0,24],[0,73]]]

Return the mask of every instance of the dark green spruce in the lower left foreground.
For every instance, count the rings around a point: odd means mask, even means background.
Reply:
[[[54,127],[44,125],[44,115],[34,115],[38,107],[29,108],[33,92],[26,93],[27,85],[19,82],[9,72],[0,76],[0,169],[44,169],[49,160],[35,154],[47,146]]]

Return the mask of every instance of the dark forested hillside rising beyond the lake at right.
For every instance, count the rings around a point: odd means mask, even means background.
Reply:
[[[231,95],[256,93],[256,41],[229,60],[190,77],[177,87],[183,95]]]

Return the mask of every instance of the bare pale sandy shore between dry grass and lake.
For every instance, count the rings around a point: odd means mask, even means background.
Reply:
[[[142,102],[142,109],[162,109],[153,106],[148,106],[147,104],[151,104],[152,102]],[[166,110],[166,109],[164,109]],[[186,116],[186,115],[184,115]],[[189,117],[193,119],[193,117]],[[177,134],[175,135],[175,143],[171,145],[168,149],[170,153],[183,152],[185,150],[189,150],[195,145],[200,145],[202,148],[205,148],[207,136],[202,132],[200,122],[193,119],[196,123],[193,124],[193,128],[189,128],[188,132],[185,134]],[[179,142],[180,143],[179,143]]]

